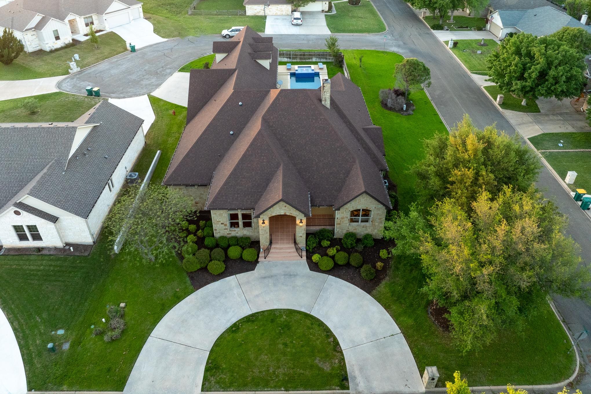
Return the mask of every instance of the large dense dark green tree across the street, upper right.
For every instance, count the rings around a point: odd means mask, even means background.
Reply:
[[[527,100],[579,96],[586,78],[580,52],[556,38],[519,33],[488,57],[489,80],[501,92]]]

